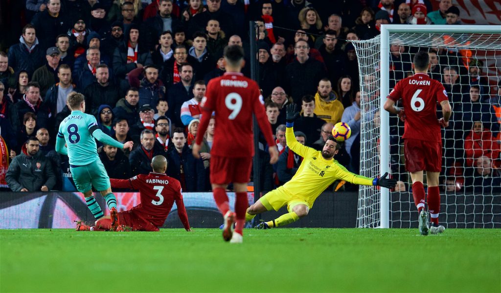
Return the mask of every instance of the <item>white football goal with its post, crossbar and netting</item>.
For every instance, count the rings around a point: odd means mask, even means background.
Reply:
[[[459,52],[469,51],[472,54],[467,59],[468,61],[472,59],[489,61],[491,66],[490,64],[487,65],[487,70],[489,70],[489,67],[493,67],[490,68],[490,71],[495,72],[494,74],[497,77],[495,83],[500,78],[497,75],[499,72],[497,68],[501,65],[501,26],[498,25],[383,24],[381,25],[381,34],[379,36],[369,40],[353,41],[353,44],[359,62],[361,89],[360,174],[368,177],[373,177],[376,174],[384,174],[385,172],[391,174],[392,167],[400,170],[393,173],[405,172],[405,169],[402,168],[403,162],[401,159],[403,157],[401,155],[403,143],[401,139],[396,137],[401,137],[403,124],[394,127],[396,131],[390,133],[390,116],[383,109],[383,104],[392,86],[401,79],[397,78],[397,76],[403,78],[411,71],[408,70],[410,64],[404,63],[409,63],[412,60],[413,53],[420,49],[428,48],[430,51],[434,48],[441,48],[455,51],[456,59],[459,60],[461,58]],[[401,69],[401,71],[395,73],[395,70],[398,69],[395,69],[395,67],[390,68],[390,46],[392,44],[405,47],[406,51],[402,53],[402,56],[404,54],[408,56],[401,58],[399,62],[404,64],[402,68],[407,68],[407,70]],[[465,58],[468,57],[466,56]],[[406,61],[403,59],[406,59]],[[447,56],[444,60],[439,64],[439,68],[443,70],[449,68],[450,71],[448,72],[452,72],[452,68],[457,64],[451,61],[450,56]],[[468,68],[467,65],[466,68]],[[441,74],[442,69],[437,74]],[[459,88],[462,88],[461,94],[463,94],[463,98],[467,96],[464,90],[471,86],[471,83],[465,82],[464,79],[460,78],[461,81],[459,81]],[[390,85],[390,81],[392,85]],[[488,93],[483,93],[483,96],[488,97]],[[458,106],[461,106],[460,102],[456,103],[456,108]],[[438,107],[438,109],[440,108]],[[479,114],[481,115],[482,113]],[[453,125],[452,127],[458,126]],[[496,125],[496,127],[498,126]],[[453,128],[446,129],[445,131],[448,131],[446,133],[451,133],[450,135],[453,137],[464,137],[463,133],[466,133],[467,129],[459,130],[458,128]],[[393,140],[398,142],[390,141],[390,137],[393,137]],[[395,149],[397,149],[396,152]],[[392,155],[400,158],[393,159],[390,162]],[[454,157],[450,157],[449,161],[453,159]],[[390,167],[390,164],[392,167]],[[395,164],[399,166],[395,167]],[[442,164],[444,165],[444,162]],[[448,166],[444,165],[445,167]],[[443,175],[441,173],[442,181],[444,180]],[[466,178],[466,181],[468,181],[468,178]],[[454,192],[452,195],[456,196],[454,200],[457,200],[457,202],[454,201],[451,203],[449,208],[448,204],[453,198],[450,198],[450,200],[444,198],[450,194],[444,196],[442,188],[446,188],[446,186],[442,183],[440,184],[442,185],[441,213],[443,213],[440,216],[441,222],[449,223],[449,227],[501,226],[501,201],[499,200],[501,195],[497,194],[498,196],[496,196],[494,193],[497,191],[487,192],[488,194],[482,193],[483,201],[480,203],[478,202],[479,199],[474,197],[475,194],[465,195],[464,190],[458,193]],[[464,189],[468,190],[466,186],[464,186]],[[400,194],[390,194],[387,188],[375,189],[370,186],[360,186],[357,226],[380,228],[417,226],[417,220],[413,220],[414,217],[417,219],[417,212],[412,201],[412,194],[410,192],[407,192],[405,195],[402,195],[403,192],[398,193]],[[394,200],[392,197],[397,199]],[[486,216],[484,216],[485,214]]]

